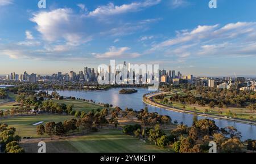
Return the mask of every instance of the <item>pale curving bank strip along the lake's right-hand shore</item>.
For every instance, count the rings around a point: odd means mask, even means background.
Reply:
[[[196,114],[198,116],[210,117],[210,118],[214,118],[214,119],[229,120],[229,121],[233,121],[233,122],[250,124],[250,125],[256,126],[256,122],[251,121],[251,120],[243,120],[243,119],[238,119],[238,118],[225,118],[225,117],[218,116],[218,115],[213,115],[213,114],[204,114],[204,113],[200,113],[200,112],[196,112],[196,111],[183,110],[183,109],[179,109],[177,107],[170,107],[170,106],[167,106],[167,105],[164,105],[164,104],[161,104],[161,103],[158,103],[158,102],[154,101],[155,96],[157,96],[159,94],[167,94],[167,93],[168,92],[161,92],[161,93],[151,94],[147,98],[143,97],[143,102],[146,103],[147,105],[160,107],[160,108],[167,109],[167,110],[176,111],[178,113]]]

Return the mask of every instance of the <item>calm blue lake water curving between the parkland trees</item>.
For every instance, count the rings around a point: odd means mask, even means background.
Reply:
[[[145,88],[137,88],[138,93],[133,94],[119,94],[120,88],[113,88],[109,90],[101,90],[101,91],[85,91],[85,90],[57,90],[57,93],[60,96],[72,96],[76,98],[82,98],[86,100],[93,100],[95,102],[103,102],[109,103],[113,106],[119,106],[121,109],[125,109],[126,107],[133,108],[134,110],[141,110],[146,105],[142,102],[143,94],[148,93],[149,91]],[[51,93],[51,91],[49,91]],[[171,110],[161,109],[160,107],[148,106],[148,111],[157,112],[161,115],[169,115],[172,118],[172,121],[177,120],[177,122],[183,122],[188,126],[192,125],[193,115],[178,113]],[[199,116],[199,119],[203,119],[206,117]],[[242,139],[256,139],[256,126],[252,126],[250,124],[243,124],[238,122],[233,122],[229,120],[221,120],[221,119],[212,119],[216,122],[216,125],[220,128],[226,126],[233,126],[237,128],[238,131],[242,133]]]

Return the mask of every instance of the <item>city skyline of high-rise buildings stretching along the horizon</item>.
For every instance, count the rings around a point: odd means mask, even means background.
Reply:
[[[79,71],[77,74],[74,71],[70,71],[69,74],[52,74],[51,76],[40,76],[38,74],[27,74],[25,71],[23,74],[15,74],[12,72],[6,75],[5,80],[13,81],[28,81],[36,83],[36,81],[76,81],[80,83],[97,83],[98,77],[104,79],[104,84],[151,84],[152,81],[159,81],[160,84],[180,85],[180,84],[193,84],[196,87],[210,87],[220,89],[240,89],[240,90],[253,90],[256,92],[255,79],[245,77],[195,77],[191,74],[182,75],[180,71],[175,70],[159,70],[154,72],[154,68],[143,68],[141,66],[134,67],[134,65],[123,62],[117,67],[108,66],[105,68],[88,68],[85,67],[84,71]],[[146,71],[142,71],[142,70]],[[157,69],[158,70],[158,69]],[[157,75],[159,73],[159,75]],[[114,78],[114,80],[113,80]],[[116,81],[119,79],[121,83]]]

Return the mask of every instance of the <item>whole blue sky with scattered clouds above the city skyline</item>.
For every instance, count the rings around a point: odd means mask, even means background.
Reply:
[[[183,75],[256,75],[256,1],[0,0],[0,74],[159,64]]]

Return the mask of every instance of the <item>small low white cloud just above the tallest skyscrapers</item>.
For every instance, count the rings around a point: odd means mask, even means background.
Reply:
[[[114,46],[109,48],[109,51],[103,53],[103,54],[97,54],[94,53],[93,55],[96,58],[99,59],[106,59],[106,58],[137,58],[139,57],[141,54],[139,53],[131,53],[129,52],[130,48],[128,47],[123,47],[123,48],[115,48]]]

